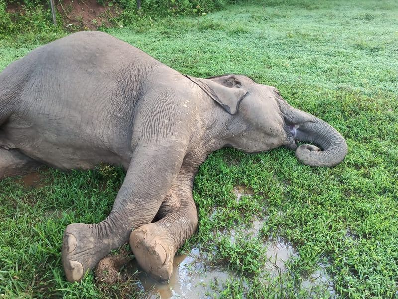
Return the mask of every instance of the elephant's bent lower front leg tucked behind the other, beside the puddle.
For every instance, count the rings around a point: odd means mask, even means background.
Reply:
[[[180,171],[157,214],[160,220],[144,224],[130,234],[130,246],[138,264],[159,282],[169,280],[174,255],[197,228],[193,176]]]

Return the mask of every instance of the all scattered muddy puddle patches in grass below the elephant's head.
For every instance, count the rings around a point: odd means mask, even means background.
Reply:
[[[253,191],[244,186],[237,186],[233,189],[236,200],[242,196],[251,196]],[[254,220],[251,225],[224,231],[223,235],[229,237],[231,243],[235,242],[238,234],[257,237],[266,219]],[[295,248],[284,239],[278,238],[264,243],[265,262],[263,268],[263,283],[288,271],[286,262],[298,257]],[[217,294],[217,290],[222,290],[222,285],[227,280],[240,280],[236,273],[232,273],[224,268],[209,267],[206,264],[209,253],[200,252],[194,248],[187,255],[177,255],[174,259],[173,275],[168,284],[160,284],[144,273],[139,276],[140,287],[148,291],[151,299],[208,299]],[[244,282],[242,282],[245,285]],[[301,288],[311,290],[314,287],[328,289],[331,296],[335,290],[333,282],[325,270],[325,265],[319,265],[319,269],[303,278]],[[247,287],[247,286],[246,286]]]

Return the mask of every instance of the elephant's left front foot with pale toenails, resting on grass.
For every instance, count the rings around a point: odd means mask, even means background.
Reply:
[[[80,281],[109,253],[107,242],[96,237],[96,224],[69,224],[62,243],[62,263],[68,281]]]

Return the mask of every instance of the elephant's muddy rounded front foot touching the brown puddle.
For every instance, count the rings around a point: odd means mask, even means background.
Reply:
[[[145,224],[130,234],[130,247],[142,269],[161,283],[173,272],[175,246],[169,234],[155,223]]]

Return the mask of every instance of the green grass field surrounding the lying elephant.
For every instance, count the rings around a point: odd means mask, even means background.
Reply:
[[[182,73],[274,85],[347,140],[334,168],[301,165],[285,148],[209,156],[194,184],[199,229],[182,252],[211,253],[208,265],[234,274],[210,297],[398,298],[397,2],[273,0],[107,32]],[[0,70],[42,42],[0,40]],[[123,176],[106,167],[43,169],[33,188],[1,181],[0,298],[145,298],[137,275],[111,286],[92,274],[71,284],[62,269],[66,225],[104,219]],[[253,194],[236,200],[237,186]],[[254,220],[262,227],[248,237]],[[278,238],[296,254],[273,276],[265,248]],[[303,284],[321,268],[333,290]]]

